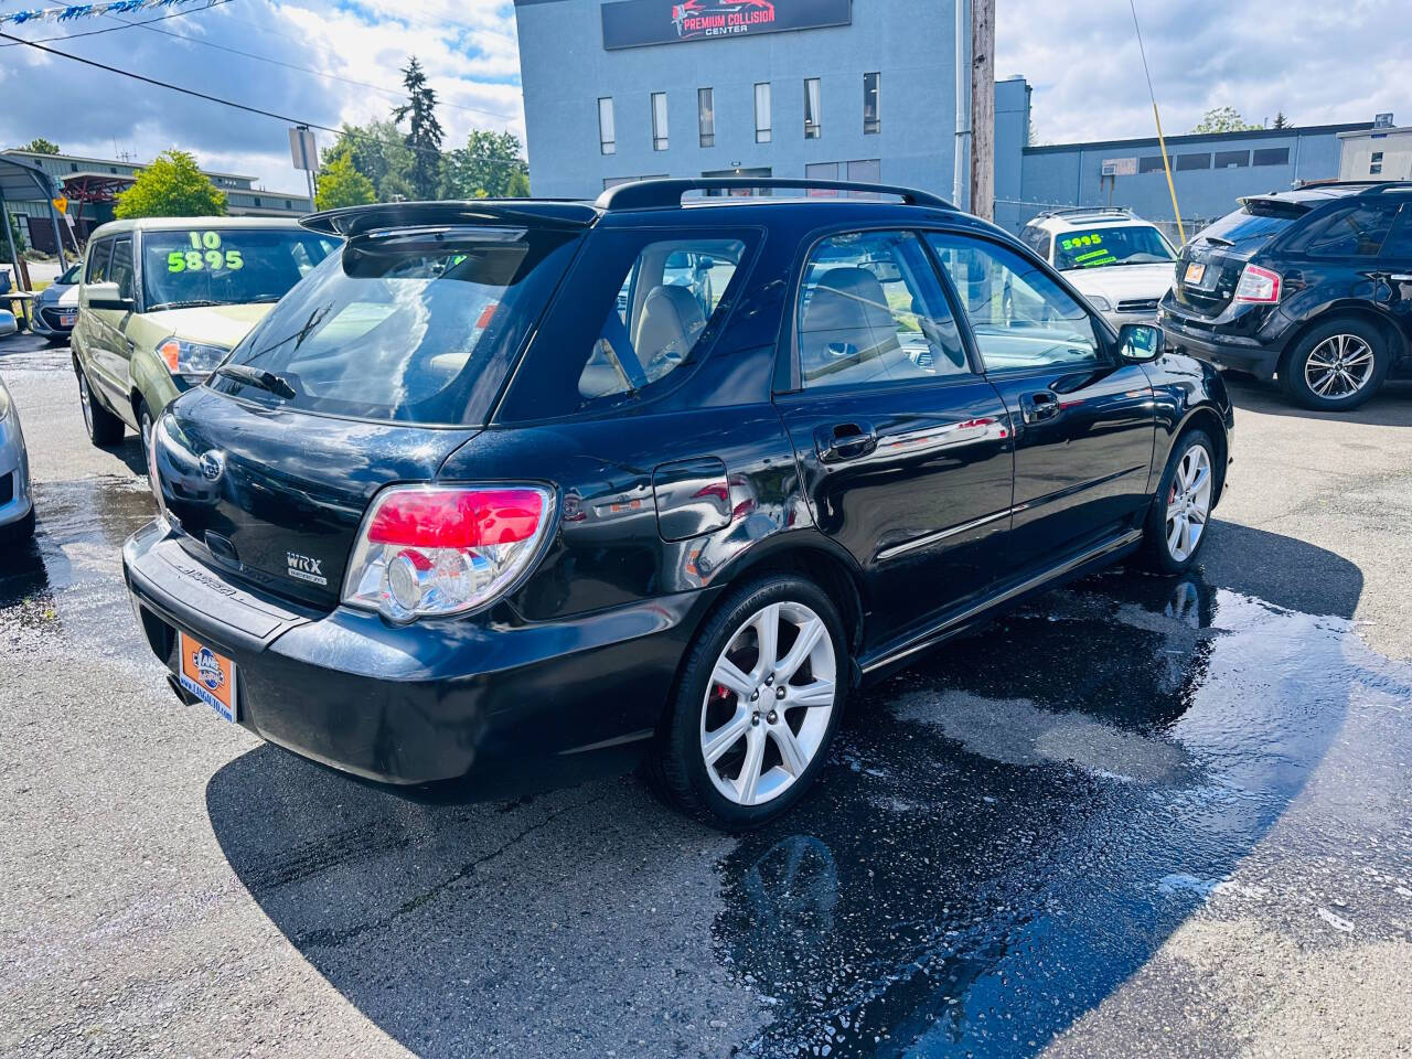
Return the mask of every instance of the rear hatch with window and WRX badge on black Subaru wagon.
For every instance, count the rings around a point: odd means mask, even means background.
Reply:
[[[580,233],[350,239],[158,424],[154,460],[182,546],[280,596],[336,606],[370,500],[435,479],[480,431]]]

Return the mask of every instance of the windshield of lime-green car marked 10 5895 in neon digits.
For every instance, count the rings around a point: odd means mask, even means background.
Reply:
[[[336,246],[292,227],[144,232],[145,311],[277,302]]]

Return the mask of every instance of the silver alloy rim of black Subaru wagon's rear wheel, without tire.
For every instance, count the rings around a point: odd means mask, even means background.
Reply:
[[[771,603],[734,631],[702,703],[700,751],[712,785],[764,805],[813,761],[837,700],[829,628],[802,603]]]

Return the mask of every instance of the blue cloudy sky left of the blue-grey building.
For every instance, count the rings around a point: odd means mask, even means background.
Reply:
[[[34,40],[110,24],[92,18],[62,28],[30,27],[16,35]],[[288,66],[178,40],[157,28]],[[472,128],[510,130],[524,138],[520,55],[508,0],[385,6],[233,0],[152,28],[52,41],[48,47],[330,127],[388,117],[402,99],[401,68],[415,55],[441,100],[438,117],[448,148],[462,144]],[[208,168],[256,175],[277,191],[304,188],[304,174],[289,164],[285,124],[274,119],[23,45],[0,49],[0,93],[21,102],[0,110],[0,144],[44,136],[66,151],[112,155],[117,150],[138,158],[181,147]],[[332,138],[319,134],[321,144]]]

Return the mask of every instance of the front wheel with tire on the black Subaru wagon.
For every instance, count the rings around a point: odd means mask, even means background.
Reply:
[[[1142,527],[1144,566],[1156,573],[1186,573],[1206,544],[1216,501],[1216,443],[1204,431],[1176,439]]]

